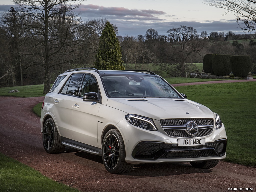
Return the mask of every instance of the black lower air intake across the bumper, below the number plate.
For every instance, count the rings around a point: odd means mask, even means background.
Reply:
[[[137,159],[179,159],[209,156],[223,156],[226,153],[227,140],[221,139],[203,146],[177,146],[160,142],[139,143],[132,156]]]

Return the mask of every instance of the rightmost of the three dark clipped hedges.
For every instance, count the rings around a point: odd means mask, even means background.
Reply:
[[[245,55],[230,57],[230,65],[233,75],[236,77],[246,77],[252,69],[251,58]]]

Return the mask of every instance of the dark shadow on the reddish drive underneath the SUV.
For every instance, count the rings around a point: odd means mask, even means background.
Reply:
[[[103,165],[102,157],[99,155],[93,155],[86,152],[77,151],[74,153],[90,161],[94,161]],[[107,171],[107,170],[106,170]],[[158,177],[158,176],[172,176],[183,174],[196,174],[196,173],[211,173],[212,169],[199,169],[194,168],[190,163],[145,163],[134,165],[133,169],[129,173],[123,173],[119,175],[126,176],[141,176],[141,177]]]

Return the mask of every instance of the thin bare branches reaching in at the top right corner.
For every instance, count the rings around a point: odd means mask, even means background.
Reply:
[[[222,0],[207,3],[207,5],[226,9],[225,14],[233,13],[239,28],[244,32],[256,30],[256,1],[255,0]]]

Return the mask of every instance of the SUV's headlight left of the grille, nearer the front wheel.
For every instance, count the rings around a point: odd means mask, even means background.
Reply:
[[[153,119],[134,114],[125,115],[125,119],[134,126],[147,129],[150,131],[157,131]]]

